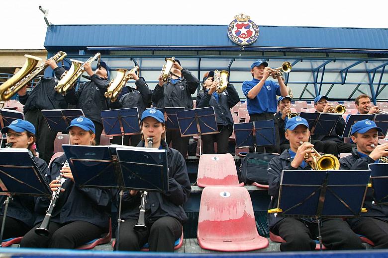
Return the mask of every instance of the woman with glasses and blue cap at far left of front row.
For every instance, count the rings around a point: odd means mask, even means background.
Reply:
[[[12,148],[28,149],[35,156],[35,128],[25,120],[17,119],[1,129],[1,133],[7,136],[7,143],[11,144]],[[43,175],[47,174],[47,164],[43,159],[35,157],[35,162],[38,165]],[[3,203],[6,196],[1,195],[0,203]],[[4,214],[4,205],[1,207],[0,227]],[[4,224],[3,239],[22,237],[34,225],[34,198],[32,196],[15,195],[9,201],[8,210]]]

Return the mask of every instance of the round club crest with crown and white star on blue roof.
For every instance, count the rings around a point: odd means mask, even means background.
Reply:
[[[250,16],[239,14],[234,16],[228,25],[228,36],[231,41],[240,45],[250,45],[259,37],[259,28]]]

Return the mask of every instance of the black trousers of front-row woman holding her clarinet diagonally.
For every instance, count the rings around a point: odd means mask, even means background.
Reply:
[[[35,225],[22,239],[20,247],[74,249],[101,237],[104,230],[86,221],[74,221],[65,225],[50,222],[49,235],[39,236]]]

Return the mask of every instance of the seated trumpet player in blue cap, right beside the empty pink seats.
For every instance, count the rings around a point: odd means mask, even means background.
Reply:
[[[282,171],[311,170],[305,160],[306,154],[313,152],[314,145],[308,142],[310,131],[308,123],[301,117],[291,118],[286,124],[286,138],[290,141],[290,149],[282,152],[278,157],[271,159],[268,165],[268,193],[272,196],[269,209],[278,205],[279,189]],[[281,251],[308,251],[314,250],[314,239],[318,236],[318,226],[312,219],[299,219],[292,217],[277,217],[269,214],[269,229],[279,235],[286,242],[280,245]],[[365,249],[359,237],[350,229],[342,219],[322,219],[321,236],[323,245],[330,250]]]

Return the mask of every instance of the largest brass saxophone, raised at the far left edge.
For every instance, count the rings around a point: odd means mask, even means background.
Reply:
[[[11,78],[5,81],[0,86],[0,100],[6,101],[9,100],[13,95],[15,95],[23,86],[25,86],[29,81],[31,81],[36,75],[41,71],[46,69],[48,65],[45,63],[38,65],[42,59],[30,55],[24,55],[27,58],[23,67],[16,72]],[[66,57],[66,53],[59,51],[57,54],[52,56],[49,59],[55,61],[55,63],[60,62]],[[36,68],[35,68],[36,67]]]

